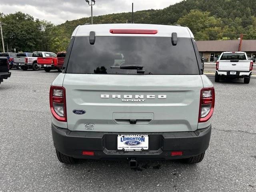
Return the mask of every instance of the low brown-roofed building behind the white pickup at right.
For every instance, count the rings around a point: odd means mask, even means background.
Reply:
[[[215,62],[222,52],[238,51],[240,40],[196,41],[196,44],[205,62]],[[241,51],[246,52],[248,57],[256,58],[256,40],[243,40]]]

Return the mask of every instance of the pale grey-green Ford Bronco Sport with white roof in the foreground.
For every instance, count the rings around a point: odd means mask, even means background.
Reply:
[[[78,26],[63,68],[50,87],[60,162],[204,158],[215,94],[189,28]]]

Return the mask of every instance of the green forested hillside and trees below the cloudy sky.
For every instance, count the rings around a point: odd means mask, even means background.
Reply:
[[[15,20],[10,20],[10,15],[12,14],[0,17],[6,26],[15,22]],[[40,35],[37,34],[37,40],[43,44],[41,47],[57,52],[66,49],[76,26],[89,23],[90,18],[66,21],[58,26],[53,26],[46,21],[35,21],[34,23],[36,22],[42,22],[38,25],[38,34]],[[130,12],[94,17],[94,24],[126,22],[131,22]],[[241,33],[245,34],[245,39],[256,39],[255,1],[252,0],[184,0],[162,10],[135,12],[134,22],[188,26],[194,33],[196,40],[236,39]],[[18,25],[19,23],[17,21],[15,24]],[[8,31],[6,26],[3,28]],[[12,31],[5,33],[4,38],[9,46],[19,46],[20,49],[24,50],[25,47],[22,44],[25,34],[26,31],[20,34],[17,31]],[[29,35],[36,36],[33,33]],[[36,37],[32,37],[32,39],[36,41]],[[30,44],[34,46],[33,42]],[[26,44],[26,49],[30,44]]]

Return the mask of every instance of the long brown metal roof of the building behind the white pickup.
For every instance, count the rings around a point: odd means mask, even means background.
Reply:
[[[238,51],[240,40],[196,41],[199,52]],[[244,52],[256,52],[256,40],[243,40]]]

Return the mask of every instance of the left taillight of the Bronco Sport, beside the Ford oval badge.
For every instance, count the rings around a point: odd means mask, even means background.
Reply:
[[[64,87],[51,86],[50,108],[52,115],[56,120],[67,122],[66,91]]]

